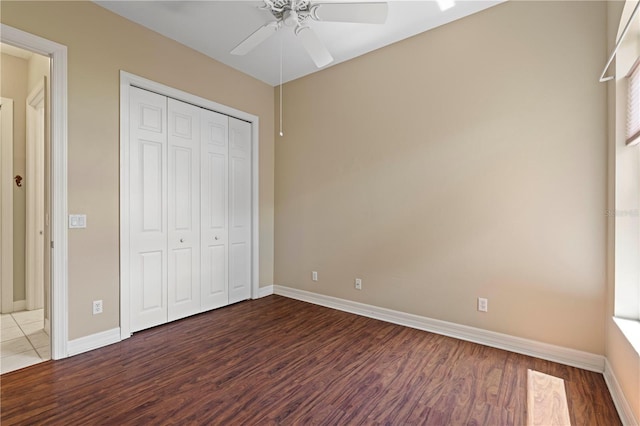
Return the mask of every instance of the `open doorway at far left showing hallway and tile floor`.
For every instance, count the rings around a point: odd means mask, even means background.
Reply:
[[[51,63],[47,56],[6,44],[0,45],[0,52],[5,158],[1,172],[0,369],[5,373],[51,358]],[[5,114],[5,105],[11,106],[11,114]],[[6,161],[9,152],[12,161]]]

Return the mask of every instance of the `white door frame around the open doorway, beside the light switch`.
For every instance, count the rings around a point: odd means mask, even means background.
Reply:
[[[51,357],[65,358],[68,330],[67,47],[0,24],[0,41],[51,58]]]

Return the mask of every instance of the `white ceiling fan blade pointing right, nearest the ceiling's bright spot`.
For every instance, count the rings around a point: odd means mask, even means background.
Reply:
[[[386,2],[316,3],[311,17],[316,21],[384,24],[387,21]]]

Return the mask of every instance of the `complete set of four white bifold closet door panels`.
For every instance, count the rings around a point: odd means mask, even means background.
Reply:
[[[246,121],[135,87],[129,95],[136,332],[251,297],[253,139]]]

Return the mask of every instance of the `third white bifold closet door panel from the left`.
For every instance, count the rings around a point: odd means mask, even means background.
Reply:
[[[202,138],[202,310],[229,303],[228,138],[229,117],[201,110]]]

